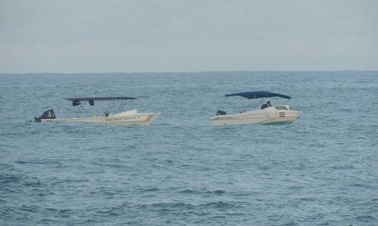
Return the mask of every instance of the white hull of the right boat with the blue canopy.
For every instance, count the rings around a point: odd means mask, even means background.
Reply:
[[[276,110],[268,107],[263,110],[253,110],[239,114],[225,114],[214,116],[213,126],[242,125],[255,123],[292,123],[302,112],[291,110]]]

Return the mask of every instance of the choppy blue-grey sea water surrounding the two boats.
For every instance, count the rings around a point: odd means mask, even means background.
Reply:
[[[303,115],[211,126],[257,104],[224,94],[255,90]],[[71,96],[135,96],[162,115],[29,122]],[[378,72],[0,75],[0,224],[377,225],[377,96]]]

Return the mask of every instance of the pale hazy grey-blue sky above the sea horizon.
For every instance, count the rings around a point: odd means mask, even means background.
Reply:
[[[378,70],[378,1],[0,0],[0,73]]]

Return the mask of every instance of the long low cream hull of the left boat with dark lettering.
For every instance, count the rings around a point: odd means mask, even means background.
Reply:
[[[130,114],[125,116],[87,117],[87,118],[62,118],[62,119],[41,119],[43,123],[60,122],[84,122],[84,123],[106,123],[111,125],[144,125],[149,126],[160,115],[160,113]]]

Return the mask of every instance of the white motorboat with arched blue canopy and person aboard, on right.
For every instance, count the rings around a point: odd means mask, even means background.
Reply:
[[[280,97],[290,100],[290,96],[269,91],[253,91],[244,93],[232,93],[225,96],[241,96],[248,99]],[[259,105],[258,105],[259,106]],[[289,105],[271,105],[267,104],[258,107],[258,109],[239,112],[237,114],[227,114],[218,110],[216,116],[211,118],[213,126],[228,126],[254,123],[292,123],[302,112],[290,110]]]

